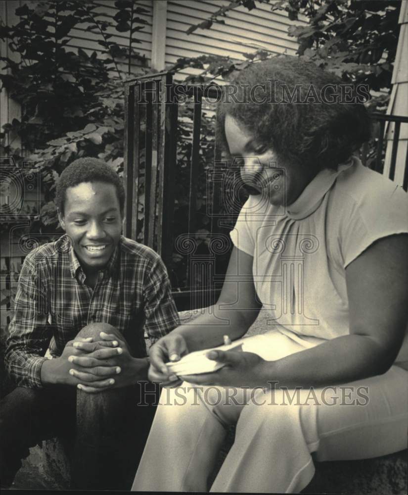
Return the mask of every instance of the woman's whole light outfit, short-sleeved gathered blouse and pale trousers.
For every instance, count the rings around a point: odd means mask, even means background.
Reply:
[[[321,171],[287,209],[250,196],[230,235],[254,258],[271,330],[244,337],[243,350],[275,360],[347,335],[345,268],[377,239],[408,232],[407,198],[357,158]],[[299,493],[314,475],[312,452],[336,460],[407,448],[407,361],[406,336],[398,365],[338,387],[164,389],[132,489],[206,491],[233,423],[212,492]]]

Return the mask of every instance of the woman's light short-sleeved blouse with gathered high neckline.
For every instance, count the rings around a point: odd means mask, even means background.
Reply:
[[[314,346],[349,334],[347,265],[377,239],[407,232],[408,194],[353,157],[321,171],[288,208],[250,196],[230,236],[254,257],[268,323]],[[408,334],[396,361],[408,366]]]

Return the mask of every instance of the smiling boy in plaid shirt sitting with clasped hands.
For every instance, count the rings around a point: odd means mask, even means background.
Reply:
[[[76,388],[91,396],[139,385],[124,418],[133,414],[137,424],[142,416],[136,433],[147,435],[152,408],[133,410],[147,381],[144,335],[154,343],[179,318],[159,255],[121,235],[124,201],[119,177],[101,160],[78,159],[60,176],[65,235],[25,258],[6,342],[17,388],[1,400],[2,486],[27,447],[72,431]]]

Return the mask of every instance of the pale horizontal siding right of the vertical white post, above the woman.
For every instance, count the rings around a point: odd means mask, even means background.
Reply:
[[[304,19],[293,23],[286,13],[271,12],[270,4],[256,2],[257,8],[245,7],[230,10],[223,17],[225,24],[214,23],[210,29],[197,29],[186,34],[191,25],[210,17],[227,0],[169,0],[167,3],[166,64],[174,64],[181,57],[202,54],[223,55],[233,60],[245,60],[244,53],[265,48],[273,53],[294,55],[298,44],[287,29],[293,24],[305,24]],[[220,17],[221,19],[221,17]],[[183,79],[197,74],[199,69],[186,68],[176,74]]]

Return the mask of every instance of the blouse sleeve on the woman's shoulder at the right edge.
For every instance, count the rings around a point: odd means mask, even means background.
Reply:
[[[344,268],[378,239],[408,233],[408,194],[391,181],[377,182],[362,198],[350,198],[345,209],[340,231]]]

